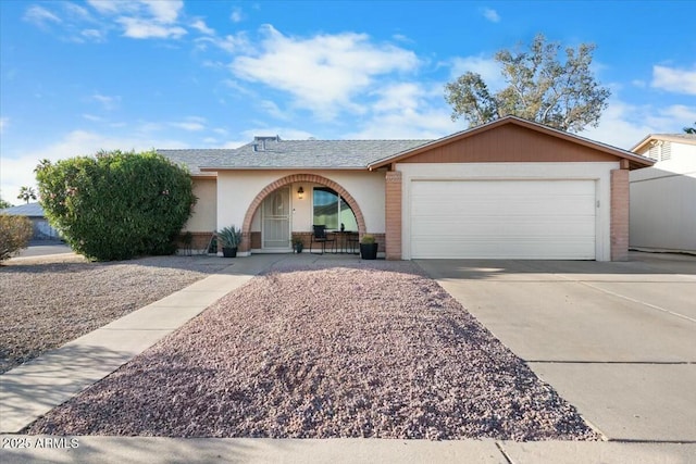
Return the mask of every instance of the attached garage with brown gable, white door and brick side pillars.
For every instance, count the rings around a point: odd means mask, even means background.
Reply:
[[[629,171],[650,160],[507,116],[386,170],[387,259],[627,259]]]

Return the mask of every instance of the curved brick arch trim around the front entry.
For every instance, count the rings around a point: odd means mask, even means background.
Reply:
[[[365,221],[364,216],[362,215],[362,211],[360,210],[358,202],[352,198],[350,193],[348,193],[348,191],[343,186],[335,183],[334,180],[327,179],[326,177],[316,174],[293,174],[279,178],[265,186],[249,204],[247,213],[244,216],[244,223],[241,225],[243,240],[239,251],[249,251],[251,249],[251,221],[253,220],[253,215],[259,206],[263,203],[263,200],[265,200],[266,197],[269,197],[278,188],[295,183],[319,184],[335,190],[340,197],[343,197],[344,201],[348,203],[353,214],[356,215],[356,222],[358,223],[358,233],[360,234],[360,236],[362,237],[362,235],[365,234]]]

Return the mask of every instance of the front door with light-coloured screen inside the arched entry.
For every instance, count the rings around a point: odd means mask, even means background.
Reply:
[[[263,249],[290,249],[290,188],[279,188],[263,200]]]

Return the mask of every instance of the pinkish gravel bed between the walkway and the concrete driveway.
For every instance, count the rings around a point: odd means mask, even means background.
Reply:
[[[28,431],[598,438],[409,262],[276,267]]]

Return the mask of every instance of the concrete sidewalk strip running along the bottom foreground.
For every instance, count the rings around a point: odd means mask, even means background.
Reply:
[[[689,464],[696,444],[606,441],[380,440],[1,436],[3,464]],[[14,443],[10,442],[14,439]],[[22,446],[24,448],[17,448]]]

